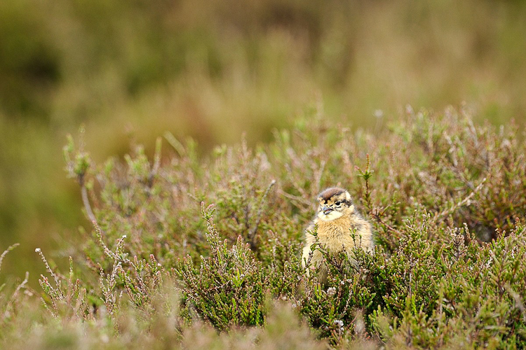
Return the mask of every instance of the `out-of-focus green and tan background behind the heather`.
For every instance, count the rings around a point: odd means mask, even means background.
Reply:
[[[524,1],[2,0],[0,248],[21,243],[2,272],[34,281],[34,248],[86,224],[61,151],[81,123],[101,162],[166,130],[267,141],[314,103],[354,127],[464,101],[522,121],[525,19]]]

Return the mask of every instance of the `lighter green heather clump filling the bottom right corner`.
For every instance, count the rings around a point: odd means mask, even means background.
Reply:
[[[467,230],[466,230],[467,231]],[[526,346],[525,228],[518,221],[510,235],[480,246],[463,230],[451,230],[442,247],[445,274],[431,312],[407,308],[400,317],[373,314],[375,329],[399,348],[523,349]],[[470,237],[469,232],[466,232]]]

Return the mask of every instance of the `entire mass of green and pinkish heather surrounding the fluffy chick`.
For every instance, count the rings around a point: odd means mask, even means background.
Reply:
[[[81,231],[69,276],[42,255],[49,312],[27,339],[107,349],[523,348],[522,137],[473,125],[464,111],[408,109],[376,135],[305,116],[268,145],[241,141],[204,159],[167,134],[171,149],[159,140],[153,162],[137,146],[126,162],[96,166],[70,140],[67,169],[93,230]],[[353,264],[322,252],[320,284],[299,252],[327,186],[349,189],[377,246],[356,249]]]

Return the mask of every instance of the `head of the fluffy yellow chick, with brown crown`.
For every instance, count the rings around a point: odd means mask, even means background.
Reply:
[[[351,214],[354,204],[351,195],[343,188],[328,188],[318,195],[318,218],[325,221],[335,220],[344,214]]]

